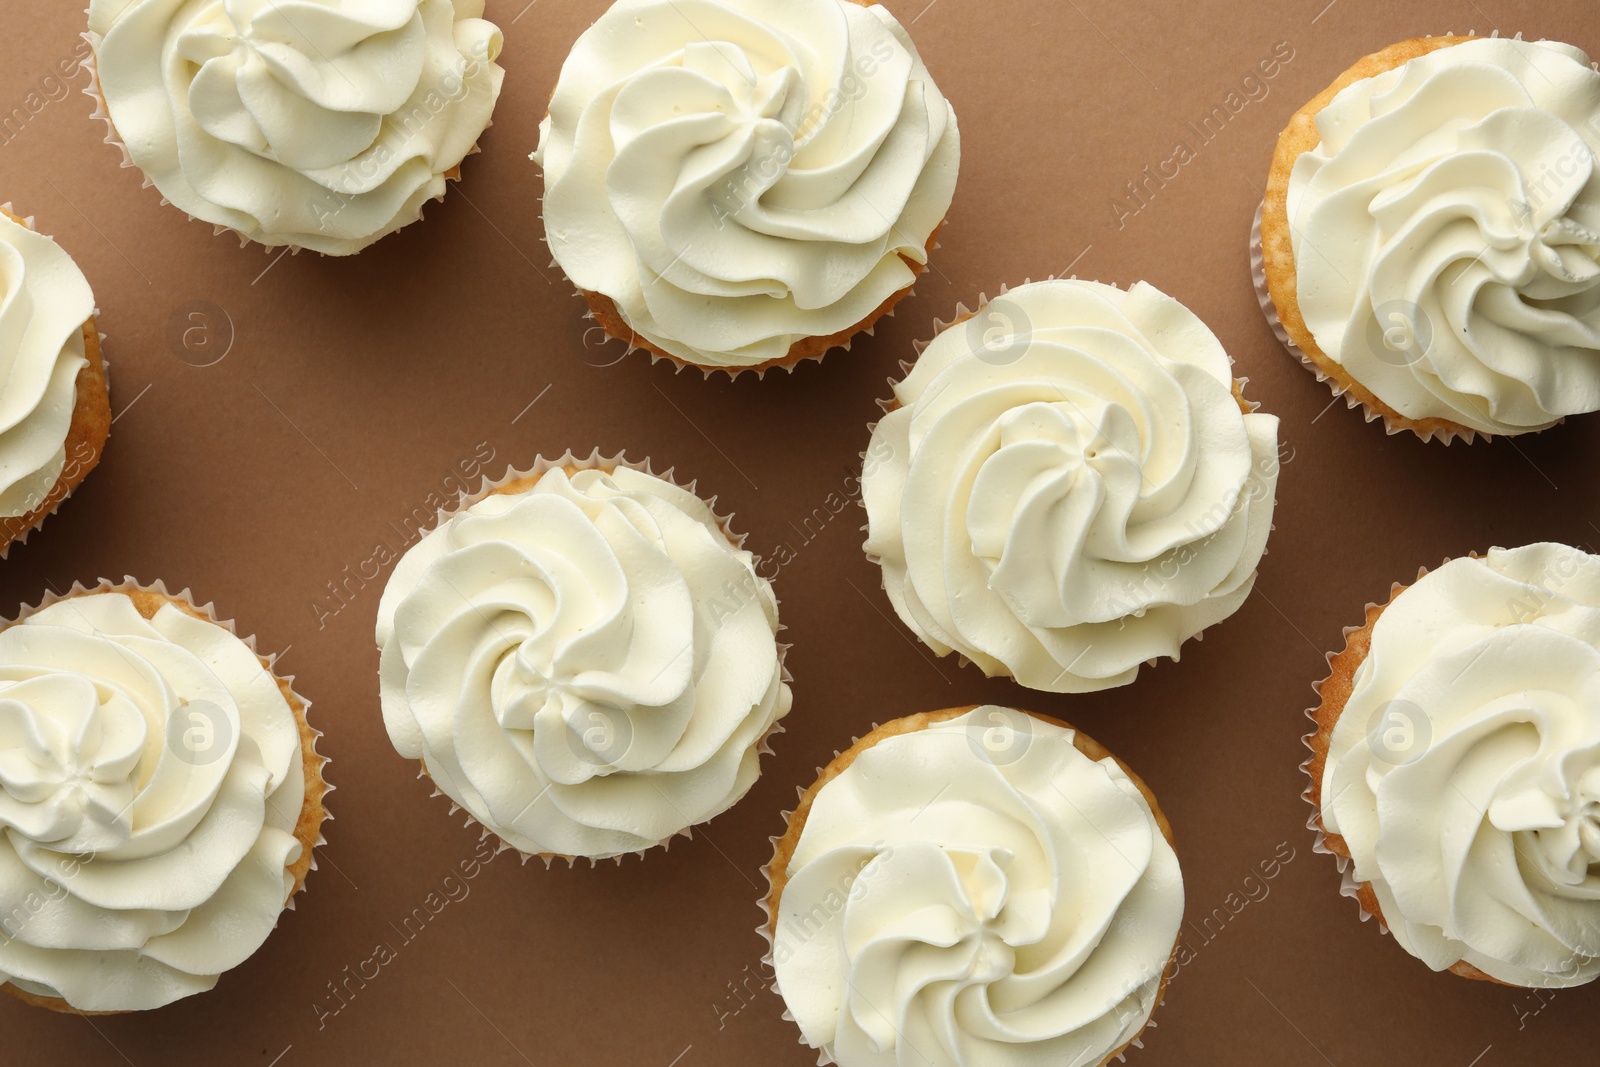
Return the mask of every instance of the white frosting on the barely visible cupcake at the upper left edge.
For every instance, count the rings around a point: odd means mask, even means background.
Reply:
[[[37,510],[66,469],[93,314],[72,258],[0,211],[0,517]]]

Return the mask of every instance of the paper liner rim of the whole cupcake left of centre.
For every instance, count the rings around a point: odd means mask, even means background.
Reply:
[[[723,536],[728,537],[728,541],[733,544],[733,547],[734,549],[744,549],[744,542],[746,542],[746,539],[747,539],[749,534],[734,533],[734,530],[733,530],[733,512],[728,512],[726,515],[718,514],[717,512],[717,498],[715,496],[712,496],[709,499],[699,496],[699,493],[694,488],[698,485],[698,480],[690,482],[688,485],[683,485],[682,482],[678,482],[674,477],[675,467],[667,467],[662,472],[656,472],[653,469],[653,466],[651,466],[650,458],[645,458],[642,461],[632,461],[632,459],[627,459],[627,456],[624,453],[618,453],[614,456],[605,456],[605,454],[602,454],[602,451],[598,448],[595,448],[594,451],[590,451],[587,456],[579,456],[579,454],[573,453],[571,450],[568,450],[558,459],[546,459],[541,454],[541,456],[534,456],[533,464],[530,464],[528,467],[507,466],[506,467],[506,474],[502,474],[499,478],[490,478],[490,477],[485,475],[477,491],[467,491],[467,493],[461,493],[458,496],[456,506],[453,509],[438,509],[438,514],[437,514],[434,526],[427,533],[424,533],[422,536],[426,537],[426,536],[434,534],[445,523],[448,523],[451,518],[454,518],[456,515],[462,514],[464,510],[467,510],[474,504],[478,504],[480,501],[485,501],[490,496],[494,496],[494,493],[498,490],[501,490],[501,488],[504,488],[507,485],[512,485],[514,482],[523,482],[523,480],[536,482],[538,478],[544,477],[546,474],[549,474],[550,470],[554,470],[557,467],[574,467],[574,469],[579,469],[579,470],[597,470],[597,469],[618,469],[618,467],[622,467],[622,469],[627,469],[627,470],[638,470],[640,474],[648,474],[653,478],[661,478],[662,482],[667,482],[669,485],[674,485],[674,486],[683,490],[685,493],[691,493],[696,498],[699,498],[701,502],[704,502],[707,507],[710,507],[712,517],[717,520],[717,526],[722,530]],[[757,576],[757,577],[760,577],[760,576]],[[768,582],[768,585],[771,587],[773,582]],[[776,590],[773,593],[773,601],[774,603],[778,601]],[[779,617],[781,616],[782,616],[782,611],[779,611]],[[782,622],[779,622],[778,632],[781,633],[784,629],[786,627],[782,625]],[[786,645],[782,641],[778,641],[778,669],[781,672],[784,685],[789,685],[789,683],[794,681],[794,677],[789,673],[789,667],[786,664],[786,661],[789,657],[789,649],[790,648],[792,648],[792,645]],[[784,734],[784,733],[787,733],[787,731],[784,729],[782,718],[779,718],[778,721],[773,723],[771,729],[768,729],[762,736],[762,739],[755,744],[757,761],[760,761],[760,757],[763,757],[763,755],[773,755],[773,749],[771,749],[770,742],[771,742],[773,737],[776,737],[779,734]],[[427,773],[427,766],[426,765],[422,765],[418,769],[418,777],[427,781],[429,787],[434,790],[430,793],[430,797],[443,797],[450,803],[450,814],[451,816],[461,814],[466,819],[466,822],[462,822],[464,829],[478,827],[478,830],[480,830],[478,841],[486,841],[490,838],[494,838],[494,845],[496,845],[494,854],[496,856],[499,856],[501,853],[517,853],[522,857],[523,865],[526,865],[530,859],[539,859],[539,861],[544,862],[544,869],[546,870],[549,870],[557,861],[565,861],[568,870],[571,870],[578,864],[578,861],[589,861],[590,870],[595,869],[595,867],[598,867],[602,862],[614,862],[618,867],[621,867],[622,861],[626,857],[629,857],[629,856],[638,856],[640,859],[643,859],[645,856],[648,856],[650,853],[653,853],[656,849],[661,849],[662,853],[669,851],[672,848],[672,841],[677,840],[677,838],[680,838],[680,837],[694,840],[694,827],[709,825],[717,817],[717,816],[712,816],[710,819],[706,819],[702,822],[696,822],[693,825],[686,825],[682,830],[678,830],[677,833],[672,833],[667,838],[664,838],[661,841],[656,841],[654,845],[650,845],[646,848],[638,848],[638,849],[634,849],[634,851],[627,851],[627,853],[619,853],[616,856],[562,856],[558,853],[525,853],[520,848],[517,848],[515,845],[510,845],[509,841],[506,841],[498,833],[494,833],[494,830],[491,830],[488,825],[485,825],[477,816],[474,816],[470,811],[467,811],[459,803],[456,803],[450,795],[446,795],[443,790],[440,790],[438,785],[434,784],[432,776]],[[754,789],[754,784],[752,784],[752,789]],[[734,800],[733,805],[728,805],[728,808],[725,811],[718,811],[717,814],[720,816],[720,814],[725,814],[726,811],[731,811],[742,800],[744,800],[744,797],[741,797],[739,800]]]

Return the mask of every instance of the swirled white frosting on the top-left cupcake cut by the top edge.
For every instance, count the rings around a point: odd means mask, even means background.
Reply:
[[[483,0],[90,0],[130,160],[197,219],[347,256],[422,218],[504,72]]]

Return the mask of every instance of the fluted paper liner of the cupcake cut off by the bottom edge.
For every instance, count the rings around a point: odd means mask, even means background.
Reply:
[[[888,737],[896,737],[901,734],[918,733],[936,723],[949,721],[952,718],[960,718],[962,715],[978,710],[979,707],[984,705],[971,704],[966,707],[949,707],[939,712],[922,712],[917,715],[906,715],[904,718],[896,718],[883,725],[872,723],[870,731],[867,731],[861,737],[851,737],[848,749],[845,749],[843,752],[835,750],[834,758],[829,761],[829,765],[816,769],[816,781],[810,785],[810,789],[802,789],[798,785],[795,787],[797,805],[790,811],[779,813],[779,817],[782,817],[786,824],[784,833],[766,838],[768,843],[773,846],[773,857],[762,865],[762,877],[766,878],[766,894],[755,902],[757,907],[762,909],[762,925],[755,928],[755,933],[760,934],[762,939],[766,942],[766,952],[762,955],[762,966],[765,966],[771,973],[773,979],[770,989],[779,998],[782,998],[784,993],[778,985],[778,966],[773,957],[773,953],[778,950],[778,905],[782,897],[782,889],[789,881],[789,870],[787,870],[789,857],[792,857],[795,846],[800,843],[800,835],[805,832],[805,822],[811,814],[811,803],[816,800],[818,793],[822,792],[824,785],[838,777],[838,774],[842,774],[845,768],[854,763],[856,757],[859,757],[862,752],[878,744],[880,741],[885,741]],[[1021,709],[1013,709],[1013,710],[1021,710]],[[1165,837],[1166,843],[1171,845],[1176,851],[1176,843],[1173,841],[1173,827],[1166,821],[1166,814],[1157,803],[1155,793],[1150,792],[1150,787],[1146,785],[1144,779],[1134,774],[1126,763],[1123,763],[1120,758],[1117,758],[1115,753],[1106,749],[1106,745],[1099,744],[1077,726],[1064,723],[1059,718],[1053,718],[1050,715],[1040,715],[1037,712],[1022,712],[1022,713],[1027,715],[1029,718],[1037,718],[1043,723],[1050,723],[1051,726],[1061,726],[1062,729],[1070,729],[1072,745],[1088,758],[1094,760],[1096,763],[1104,758],[1114,760],[1117,766],[1122,768],[1123,774],[1126,774],[1128,779],[1138,787],[1139,793],[1144,797],[1144,801],[1150,806],[1150,814],[1155,817],[1155,824],[1160,829],[1162,837]],[[782,869],[779,870],[779,867]],[[1114,1049],[1109,1056],[1106,1056],[1106,1059],[1099,1062],[1099,1067],[1106,1067],[1106,1064],[1110,1064],[1112,1061],[1125,1062],[1125,1056],[1130,1048],[1141,1048],[1141,1049],[1144,1048],[1144,1041],[1141,1040],[1144,1032],[1157,1029],[1155,1013],[1160,1011],[1162,1005],[1166,1003],[1166,987],[1171,982],[1173,974],[1176,973],[1173,969],[1173,961],[1176,961],[1178,958],[1178,952],[1182,945],[1182,941],[1184,941],[1182,933],[1179,933],[1178,941],[1173,942],[1173,955],[1168,958],[1166,969],[1162,971],[1162,984],[1160,989],[1157,990],[1155,1006],[1150,1009],[1150,1017],[1144,1021],[1144,1025],[1139,1027],[1139,1032],[1134,1033],[1126,1045]],[[794,1013],[789,1011],[787,1000],[784,1000],[782,1019],[784,1022],[795,1022]],[[808,1048],[816,1053],[818,1067],[829,1067],[829,1064],[835,1062],[834,1057],[829,1056],[826,1048],[816,1048],[810,1045],[805,1040],[803,1033],[798,1037],[798,1043],[802,1048]]]

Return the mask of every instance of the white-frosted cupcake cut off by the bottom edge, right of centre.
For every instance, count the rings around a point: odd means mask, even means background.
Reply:
[[[1150,790],[1064,723],[912,715],[821,771],[774,838],[762,933],[840,1067],[1098,1067],[1150,1021],[1184,915]]]

